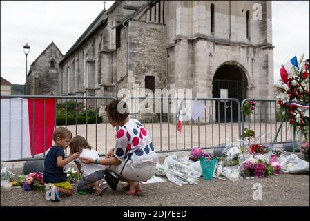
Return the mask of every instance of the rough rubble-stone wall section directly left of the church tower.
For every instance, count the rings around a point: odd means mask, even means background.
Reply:
[[[145,76],[154,76],[155,89],[166,88],[166,26],[131,21],[129,30],[129,73],[135,84],[145,88]]]

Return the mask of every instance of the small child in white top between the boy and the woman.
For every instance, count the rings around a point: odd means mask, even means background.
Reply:
[[[76,136],[70,141],[70,155],[79,153],[80,156],[98,158],[99,154],[95,151],[84,137]],[[99,164],[84,164],[81,160],[76,159],[77,169],[83,174],[83,178],[77,184],[77,191],[90,191],[95,187],[95,195],[101,195],[106,191],[107,187],[101,189],[99,180],[101,180],[106,173],[106,166]]]

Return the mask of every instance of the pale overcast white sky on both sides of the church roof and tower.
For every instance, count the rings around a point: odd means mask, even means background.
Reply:
[[[108,9],[114,1],[106,1]],[[1,1],[1,77],[25,84],[28,70],[52,42],[63,55],[104,9],[104,1]],[[309,1],[272,1],[273,75],[302,53],[309,58]]]

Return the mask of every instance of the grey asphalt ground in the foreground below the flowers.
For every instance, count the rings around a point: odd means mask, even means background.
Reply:
[[[253,199],[253,184],[262,185],[262,200]],[[1,206],[309,206],[309,175],[283,174],[269,178],[204,180],[177,186],[173,182],[142,184],[139,196],[128,196],[118,186],[104,195],[91,194],[46,200],[40,191],[1,192]],[[30,200],[31,199],[31,200]]]

